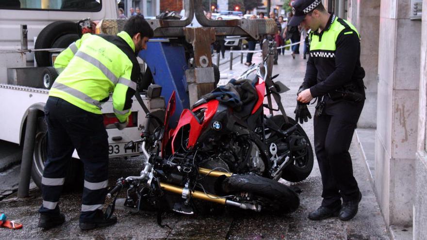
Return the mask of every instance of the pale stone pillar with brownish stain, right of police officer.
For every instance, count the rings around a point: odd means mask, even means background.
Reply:
[[[387,224],[411,225],[415,191],[421,22],[411,0],[381,0],[375,190]]]

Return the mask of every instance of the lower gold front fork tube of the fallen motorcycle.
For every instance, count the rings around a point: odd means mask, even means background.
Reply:
[[[224,175],[224,174],[222,174]],[[160,187],[164,188],[164,190],[168,191],[168,192],[173,192],[173,193],[177,193],[177,194],[181,194],[183,192],[183,188],[181,187],[177,187],[171,184],[167,184],[167,183],[160,183]],[[261,206],[255,206],[254,204],[250,204],[250,203],[238,203],[238,202],[234,202],[231,200],[228,200],[224,197],[220,197],[217,195],[213,195],[213,194],[206,194],[204,192],[199,192],[199,191],[190,191],[191,195],[194,198],[197,199],[201,199],[201,200],[205,200],[205,201],[210,201],[210,202],[214,202],[214,203],[219,203],[222,205],[230,205],[230,206],[234,206],[234,207],[238,207],[238,208],[242,208],[242,209],[251,209],[254,211],[261,211]]]

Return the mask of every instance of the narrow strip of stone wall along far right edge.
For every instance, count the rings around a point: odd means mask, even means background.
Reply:
[[[423,1],[427,6],[427,0]],[[427,11],[423,12],[421,38],[427,37]],[[426,119],[427,119],[427,42],[421,41],[420,90],[418,113],[418,142],[416,157],[416,187],[413,206],[413,239],[427,236],[427,153],[426,153]]]

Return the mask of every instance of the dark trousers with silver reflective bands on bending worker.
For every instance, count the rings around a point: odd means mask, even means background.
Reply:
[[[84,165],[85,180],[80,221],[90,221],[96,209],[104,204],[107,193],[108,135],[103,117],[50,96],[45,119],[48,124],[47,160],[42,178],[43,205],[39,212],[59,213],[63,179],[76,149]]]

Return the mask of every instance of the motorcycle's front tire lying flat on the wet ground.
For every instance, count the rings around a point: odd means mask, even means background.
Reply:
[[[221,183],[224,194],[251,193],[263,212],[291,213],[299,207],[298,194],[288,186],[258,175],[233,175]]]

